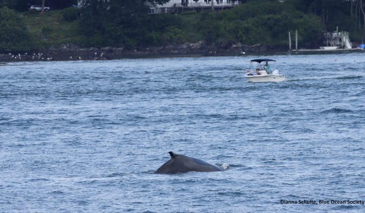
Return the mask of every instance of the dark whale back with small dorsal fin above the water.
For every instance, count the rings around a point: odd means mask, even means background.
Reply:
[[[168,152],[171,159],[159,167],[155,173],[178,173],[188,171],[222,171],[220,167],[207,163],[203,160],[188,157],[182,154]]]

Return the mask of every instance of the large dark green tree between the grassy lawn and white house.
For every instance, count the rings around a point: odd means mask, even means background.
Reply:
[[[84,0],[80,28],[90,38],[90,45],[136,46],[149,43],[148,11],[145,0]]]

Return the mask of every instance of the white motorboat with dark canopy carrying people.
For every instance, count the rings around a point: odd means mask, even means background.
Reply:
[[[249,70],[245,75],[246,79],[250,82],[280,82],[285,80],[285,75],[279,74],[279,70],[276,67],[274,71],[271,71],[270,62],[276,62],[272,59],[254,59],[251,60]],[[252,65],[252,62],[257,62],[256,66]],[[264,62],[264,63],[262,63]],[[256,68],[254,68],[256,67]]]

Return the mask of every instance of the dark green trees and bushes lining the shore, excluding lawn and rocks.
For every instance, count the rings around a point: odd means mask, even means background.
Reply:
[[[19,8],[25,1],[40,4],[42,0],[0,0],[0,51],[29,46],[27,28],[15,12],[22,11]],[[154,15],[148,14],[145,1],[83,0],[83,7],[74,11],[77,17],[67,21],[79,23],[79,33],[85,37],[80,46],[94,47],[198,41],[286,45],[288,31],[294,30],[298,30],[301,46],[317,47],[322,45],[323,31],[333,31],[337,26],[349,31],[352,41],[361,41],[365,31],[365,0],[245,0],[231,10]],[[46,6],[58,4],[60,8],[77,3],[45,2]],[[4,30],[13,31],[12,36]]]

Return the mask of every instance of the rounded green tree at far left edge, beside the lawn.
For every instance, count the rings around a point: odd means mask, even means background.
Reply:
[[[19,14],[7,7],[0,8],[0,52],[28,48],[28,30]]]

